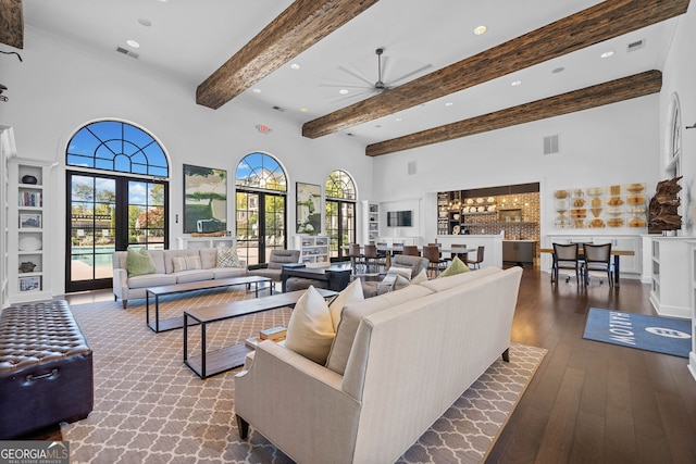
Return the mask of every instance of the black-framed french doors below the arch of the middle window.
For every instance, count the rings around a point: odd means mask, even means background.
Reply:
[[[237,253],[247,264],[269,262],[271,250],[285,249],[285,196],[237,190]]]

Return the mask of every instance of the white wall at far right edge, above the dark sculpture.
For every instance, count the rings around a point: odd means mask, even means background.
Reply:
[[[664,63],[662,91],[660,93],[660,178],[668,176],[662,171],[667,161],[669,134],[670,102],[672,96],[679,97],[682,110],[682,199],[684,226],[682,234],[696,235],[693,222],[696,221],[696,128],[684,129],[696,123],[696,61],[694,45],[696,43],[696,8],[691,5],[688,12],[678,20],[676,33],[672,40],[669,55]]]

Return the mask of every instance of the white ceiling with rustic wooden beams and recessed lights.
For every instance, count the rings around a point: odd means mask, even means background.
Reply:
[[[24,0],[24,22],[32,34],[181,83],[221,114],[283,111],[306,137],[350,136],[376,156],[657,92],[688,4]],[[0,0],[0,21],[2,43],[32,49],[20,0]],[[488,32],[473,35],[480,25]],[[613,57],[600,59],[606,51]]]

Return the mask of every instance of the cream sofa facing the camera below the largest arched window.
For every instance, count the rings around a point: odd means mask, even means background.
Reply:
[[[128,300],[145,298],[145,289],[162,285],[185,284],[189,281],[222,279],[231,277],[244,277],[248,274],[247,265],[240,262],[241,267],[216,267],[217,249],[201,248],[196,250],[148,250],[154,261],[157,272],[128,277],[126,271],[127,251],[113,253],[113,297],[115,301],[123,301],[123,309],[128,305]],[[174,272],[173,258],[199,256],[201,268]]]

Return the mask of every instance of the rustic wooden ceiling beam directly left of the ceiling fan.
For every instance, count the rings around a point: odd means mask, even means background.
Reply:
[[[219,109],[378,0],[296,0],[196,89]]]

